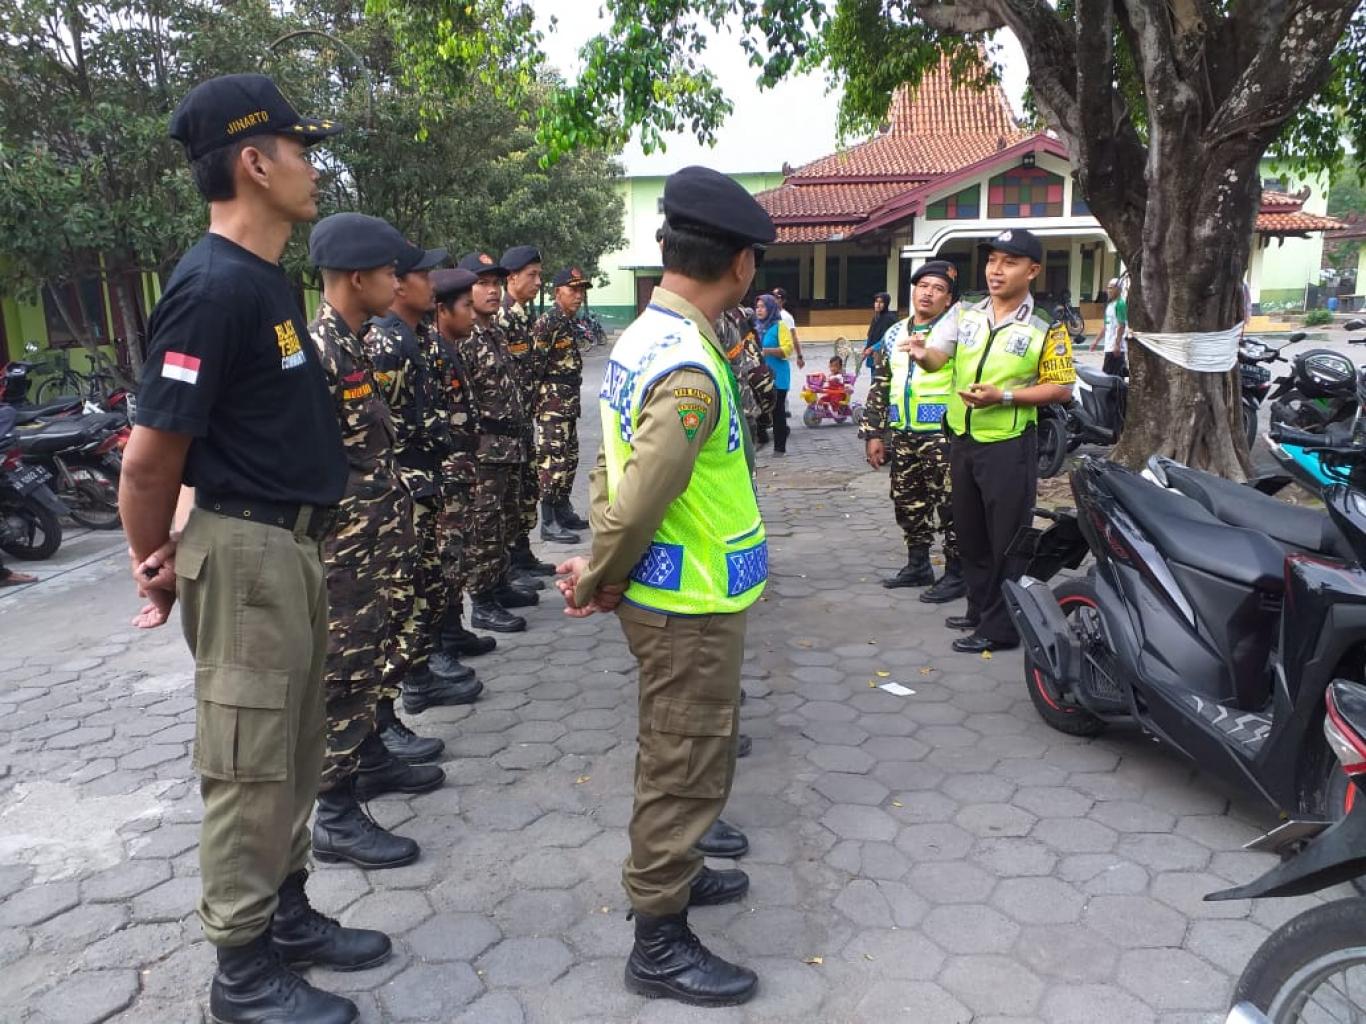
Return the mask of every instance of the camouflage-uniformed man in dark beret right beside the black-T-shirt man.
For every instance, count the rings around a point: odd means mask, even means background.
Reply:
[[[406,247],[387,221],[337,213],[318,223],[309,257],[322,270],[322,304],[309,324],[336,401],[350,471],[339,526],[324,546],[328,653],[326,756],[313,825],[318,860],[361,867],[413,863],[418,844],[381,829],[361,807],[382,792],[423,793],[445,781],[413,766],[377,732],[381,699],[399,695],[398,636],[414,601],[413,498],[393,461],[395,427],[358,330],[393,300],[393,265]]]

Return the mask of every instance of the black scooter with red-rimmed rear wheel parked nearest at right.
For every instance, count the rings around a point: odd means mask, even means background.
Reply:
[[[1083,459],[1075,513],[1023,531],[1029,575],[1005,583],[1040,715],[1081,736],[1138,721],[1287,815],[1341,816],[1348,789],[1320,726],[1328,683],[1366,670],[1366,451],[1324,455],[1352,467],[1354,486],[1328,496],[1348,561],[1287,556],[1265,532]],[[1089,578],[1044,584],[1087,552]]]

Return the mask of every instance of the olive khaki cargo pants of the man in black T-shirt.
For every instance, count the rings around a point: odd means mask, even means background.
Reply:
[[[216,946],[264,933],[285,875],[309,857],[322,767],[328,591],[320,545],[194,509],[176,549],[194,654],[199,920]]]

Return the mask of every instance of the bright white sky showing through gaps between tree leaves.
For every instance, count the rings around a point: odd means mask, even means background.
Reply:
[[[563,0],[531,0],[538,27],[545,33],[546,59],[567,76],[579,70],[579,48],[607,23],[593,0],[575,0],[570,15]],[[559,15],[559,25],[550,31],[550,15]],[[1004,48],[1005,91],[1020,111],[1024,89],[1024,57],[1015,38],[1001,33]],[[835,152],[835,120],[839,96],[825,91],[822,75],[803,75],[784,79],[769,90],[755,85],[757,71],[744,61],[744,53],[734,37],[721,37],[708,51],[717,79],[729,97],[734,112],[720,128],[716,145],[702,146],[688,134],[668,139],[665,152],[645,154],[639,145],[631,145],[623,154],[630,175],[667,175],[688,164],[708,164],[719,171],[777,171],[784,161],[798,167]],[[762,131],[769,141],[762,147],[755,134]]]

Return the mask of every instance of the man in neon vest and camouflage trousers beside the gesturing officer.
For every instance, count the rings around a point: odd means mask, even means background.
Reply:
[[[921,601],[943,603],[967,593],[953,532],[948,438],[937,422],[917,423],[911,410],[937,410],[934,419],[943,418],[940,406],[947,401],[947,395],[936,390],[930,396],[925,389],[938,386],[944,374],[932,377],[922,371],[908,362],[906,354],[896,352],[895,345],[904,335],[929,336],[958,299],[958,269],[947,261],[933,259],[911,276],[911,315],[888,330],[873,365],[873,384],[863,406],[859,437],[866,442],[869,466],[880,467],[891,453],[892,505],[896,523],[906,535],[906,565],[882,580],[882,586],[929,587],[921,594]],[[893,360],[900,360],[900,374],[893,371]],[[893,377],[904,381],[904,395],[892,395]],[[945,378],[943,386],[951,388],[952,382]],[[944,575],[938,582],[930,565],[936,519],[944,538]]]

